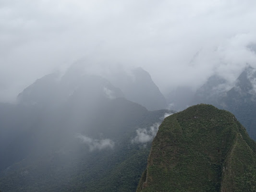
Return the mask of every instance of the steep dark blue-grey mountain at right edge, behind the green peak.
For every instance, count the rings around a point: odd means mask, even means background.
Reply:
[[[256,69],[247,66],[232,89],[219,98],[219,106],[231,111],[256,140]]]

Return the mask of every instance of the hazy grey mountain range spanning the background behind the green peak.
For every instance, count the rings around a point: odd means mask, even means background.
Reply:
[[[255,87],[256,70],[248,66],[233,84],[215,75],[196,93],[178,88],[167,100],[176,109],[210,103],[230,110],[256,140]],[[104,76],[74,64],[38,79],[16,104],[0,103],[0,190],[134,192],[159,124],[175,113],[165,109],[168,102],[141,68]],[[219,189],[219,182],[213,178],[208,190]]]

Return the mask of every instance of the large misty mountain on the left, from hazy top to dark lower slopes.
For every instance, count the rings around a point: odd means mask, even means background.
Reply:
[[[50,74],[0,104],[3,192],[133,192],[169,110],[148,111],[98,75]]]

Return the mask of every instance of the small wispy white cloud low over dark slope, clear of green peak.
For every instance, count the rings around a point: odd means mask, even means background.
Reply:
[[[82,143],[88,145],[90,151],[94,150],[102,150],[106,148],[113,148],[114,147],[114,142],[110,139],[92,139],[90,137],[87,137],[82,134],[78,134],[76,136],[77,138],[81,139]]]

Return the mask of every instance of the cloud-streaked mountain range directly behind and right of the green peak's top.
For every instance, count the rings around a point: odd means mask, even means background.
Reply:
[[[230,83],[219,75],[213,75],[196,92],[189,87],[178,88],[176,95],[171,98],[174,110],[200,103],[228,110],[256,140],[256,69],[250,65],[245,67],[235,82]]]

